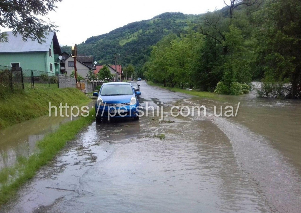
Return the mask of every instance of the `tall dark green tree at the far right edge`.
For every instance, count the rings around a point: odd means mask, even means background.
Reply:
[[[301,4],[296,0],[269,0],[265,7],[263,58],[266,78],[292,84],[291,98],[301,96]]]

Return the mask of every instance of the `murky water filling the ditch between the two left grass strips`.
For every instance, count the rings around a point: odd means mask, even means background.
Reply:
[[[88,104],[92,105],[93,101]],[[18,157],[29,157],[36,151],[37,141],[69,121],[70,117],[55,117],[52,113],[51,117],[41,116],[0,130],[0,169],[14,165]]]

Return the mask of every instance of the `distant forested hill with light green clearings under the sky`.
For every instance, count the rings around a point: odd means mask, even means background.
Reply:
[[[78,45],[78,52],[93,55],[99,64],[112,63],[113,54],[118,53],[119,64],[133,64],[139,70],[147,61],[152,45],[164,35],[185,32],[188,23],[196,22],[200,16],[166,12],[151,20],[133,22],[107,34],[92,36]],[[63,46],[62,51],[70,52],[71,48]]]

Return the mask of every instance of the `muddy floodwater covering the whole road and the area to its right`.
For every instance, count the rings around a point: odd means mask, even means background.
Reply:
[[[92,123],[1,211],[300,212],[301,102],[139,83],[141,105],[163,106],[163,122]],[[237,117],[213,116],[238,102]],[[205,105],[207,117],[172,117],[173,104]]]

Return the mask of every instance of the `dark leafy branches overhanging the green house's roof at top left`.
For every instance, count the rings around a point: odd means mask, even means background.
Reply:
[[[16,36],[20,34],[23,40],[44,42],[48,31],[57,26],[39,18],[50,11],[55,11],[55,3],[62,0],[1,0],[0,26],[11,28]],[[7,42],[7,34],[0,31],[0,42]]]

